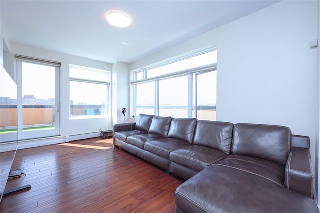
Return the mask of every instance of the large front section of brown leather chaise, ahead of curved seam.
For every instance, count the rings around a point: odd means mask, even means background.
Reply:
[[[183,212],[318,212],[315,201],[265,178],[213,164],[175,192]]]

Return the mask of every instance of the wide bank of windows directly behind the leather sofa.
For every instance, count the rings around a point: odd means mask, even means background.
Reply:
[[[216,120],[216,61],[207,49],[133,72],[133,115]]]

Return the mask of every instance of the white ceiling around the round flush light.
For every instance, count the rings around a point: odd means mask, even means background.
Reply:
[[[11,42],[104,62],[131,63],[278,1],[0,2],[1,18]],[[110,10],[126,12],[132,18],[132,25],[116,28],[108,24],[104,14]]]

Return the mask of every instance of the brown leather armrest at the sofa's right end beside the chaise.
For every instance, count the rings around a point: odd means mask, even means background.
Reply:
[[[309,149],[292,147],[285,167],[285,187],[313,198],[313,175]]]

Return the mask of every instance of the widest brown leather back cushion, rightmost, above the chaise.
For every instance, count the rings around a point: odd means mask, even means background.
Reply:
[[[233,129],[231,152],[285,165],[290,143],[291,130],[288,127],[238,123]]]

